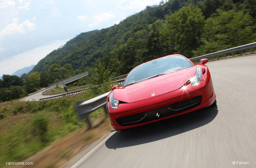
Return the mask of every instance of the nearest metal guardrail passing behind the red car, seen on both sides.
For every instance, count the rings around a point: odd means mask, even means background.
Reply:
[[[190,60],[191,61],[198,60],[198,59],[212,57],[212,56],[216,56],[216,55],[220,55],[220,54],[226,54],[226,53],[230,53],[230,52],[232,52],[232,54],[234,56],[235,51],[241,51],[241,54],[243,54],[244,49],[251,48],[251,52],[252,52],[254,47],[256,47],[256,42],[238,46],[238,47],[234,47],[234,48],[230,48],[230,49],[226,49],[226,50],[222,50],[222,51],[218,51],[218,52],[214,52],[214,53],[210,53],[210,54],[206,54],[206,55],[202,55],[202,56],[198,56],[198,57],[194,57],[194,58],[190,58]],[[119,76],[119,78],[126,77],[127,75],[128,74]],[[118,77],[116,77],[116,78],[118,78]],[[115,79],[115,78],[113,78],[113,79]],[[90,127],[92,126],[92,124],[91,124],[91,121],[90,121],[88,115],[103,106],[105,107],[105,112],[106,112],[105,104],[106,104],[107,95],[109,93],[110,92],[104,93],[104,94],[94,97],[90,100],[86,100],[86,101],[81,100],[81,101],[76,102],[76,110],[77,110],[78,116],[81,119],[87,118],[87,122]]]

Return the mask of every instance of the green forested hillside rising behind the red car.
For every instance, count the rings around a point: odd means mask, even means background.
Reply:
[[[128,16],[118,25],[82,33],[39,61],[31,72],[54,63],[74,70],[104,61],[112,76],[153,58],[198,56],[254,42],[256,0],[169,0]]]

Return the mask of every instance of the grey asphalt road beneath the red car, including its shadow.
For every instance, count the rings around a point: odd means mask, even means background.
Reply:
[[[256,54],[206,65],[217,106],[113,132],[74,167],[255,168]]]

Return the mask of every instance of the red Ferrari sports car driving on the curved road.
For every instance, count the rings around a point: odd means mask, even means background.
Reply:
[[[107,96],[112,127],[128,129],[216,105],[207,62],[195,65],[174,54],[132,69],[122,88],[113,86]]]

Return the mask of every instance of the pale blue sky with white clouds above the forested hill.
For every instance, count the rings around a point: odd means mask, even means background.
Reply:
[[[82,32],[118,24],[160,0],[0,0],[0,76],[37,62]]]

